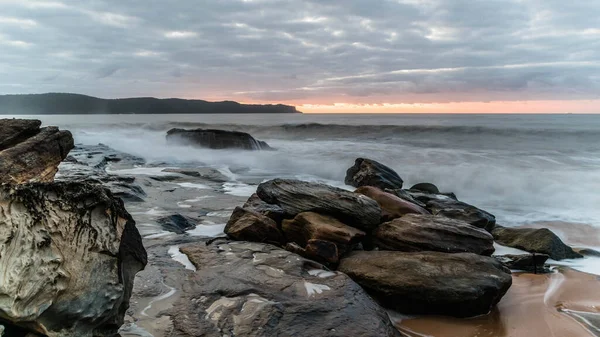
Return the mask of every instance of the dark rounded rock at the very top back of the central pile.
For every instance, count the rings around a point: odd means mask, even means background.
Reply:
[[[391,168],[371,159],[358,158],[346,171],[344,182],[354,187],[373,186],[381,190],[402,188],[402,178]]]

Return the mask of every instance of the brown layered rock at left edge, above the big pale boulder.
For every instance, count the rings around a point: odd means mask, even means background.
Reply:
[[[37,120],[0,119],[0,183],[50,182],[73,148],[69,131]]]

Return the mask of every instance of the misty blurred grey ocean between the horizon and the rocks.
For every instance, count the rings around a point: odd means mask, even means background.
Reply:
[[[260,181],[275,177],[344,187],[346,169],[357,157],[367,157],[396,170],[406,187],[434,183],[495,214],[502,225],[561,221],[600,227],[600,116],[596,115],[27,117],[71,130],[76,143],[103,143],[143,157],[150,165],[217,168],[231,177],[232,194],[249,194]],[[167,146],[165,133],[173,127],[245,131],[278,151]]]

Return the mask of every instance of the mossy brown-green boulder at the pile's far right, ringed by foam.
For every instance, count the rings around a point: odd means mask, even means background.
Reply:
[[[530,253],[541,253],[553,260],[578,259],[583,255],[575,252],[548,228],[509,228],[497,226],[494,239],[501,245]]]

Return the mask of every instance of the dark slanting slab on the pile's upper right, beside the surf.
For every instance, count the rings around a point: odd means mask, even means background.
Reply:
[[[425,204],[425,208],[433,215],[442,215],[450,219],[465,221],[475,227],[491,232],[496,225],[496,217],[456,197],[444,194],[407,191],[413,198]]]

